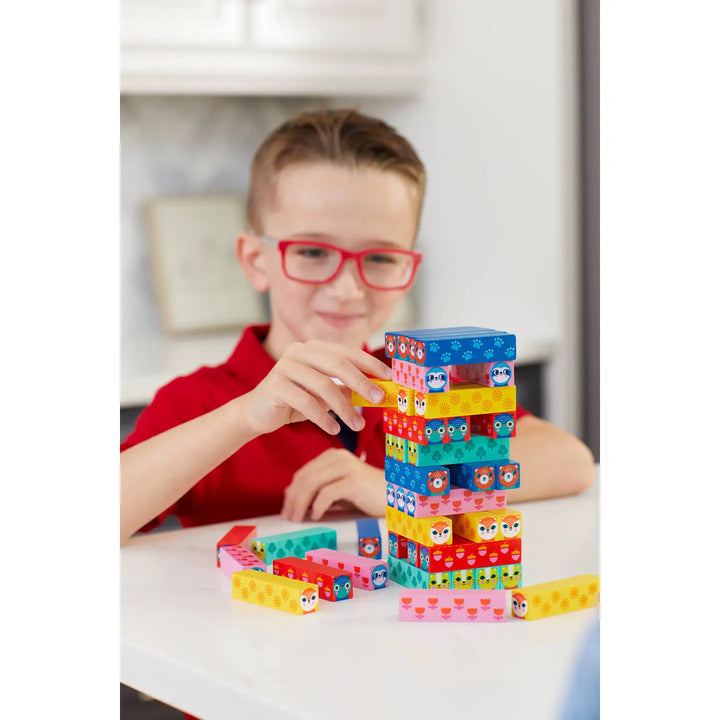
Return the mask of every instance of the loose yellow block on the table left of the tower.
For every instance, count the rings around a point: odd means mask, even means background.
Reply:
[[[232,594],[236,600],[282,610],[293,615],[307,615],[318,609],[318,586],[280,575],[241,570],[232,574]]]

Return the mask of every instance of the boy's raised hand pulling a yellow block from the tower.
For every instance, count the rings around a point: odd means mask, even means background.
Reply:
[[[375,404],[385,397],[366,374],[392,379],[385,363],[362,350],[319,340],[293,343],[263,381],[243,396],[246,422],[259,435],[301,420],[337,435],[340,426],[328,413],[332,410],[349,427],[361,430],[365,420],[352,406],[350,391]],[[330,378],[337,378],[345,387]]]

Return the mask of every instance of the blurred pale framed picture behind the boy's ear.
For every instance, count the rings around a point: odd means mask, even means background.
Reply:
[[[245,228],[241,193],[156,197],[147,205],[153,276],[169,334],[265,322],[266,302],[235,257]]]

